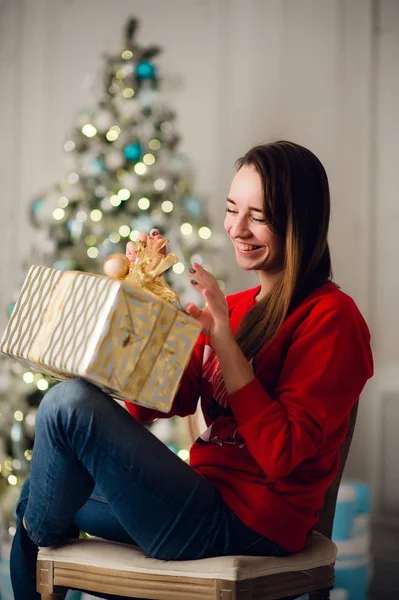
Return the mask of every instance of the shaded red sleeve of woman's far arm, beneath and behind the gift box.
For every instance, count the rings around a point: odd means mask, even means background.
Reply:
[[[186,370],[174,397],[172,408],[168,413],[152,410],[132,402],[125,402],[130,414],[141,423],[154,419],[169,419],[175,415],[186,417],[195,413],[198,398],[201,394],[202,356],[204,352],[204,336],[200,335],[191,354]]]

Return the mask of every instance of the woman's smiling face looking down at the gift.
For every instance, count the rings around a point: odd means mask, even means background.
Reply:
[[[269,274],[281,271],[284,241],[265,222],[262,180],[251,165],[242,166],[231,183],[224,228],[239,267]]]

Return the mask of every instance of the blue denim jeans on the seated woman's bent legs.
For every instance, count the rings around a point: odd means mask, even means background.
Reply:
[[[51,388],[38,410],[11,551],[15,600],[39,599],[37,547],[80,529],[163,560],[288,554],[244,525],[210,481],[110,396],[71,379]]]

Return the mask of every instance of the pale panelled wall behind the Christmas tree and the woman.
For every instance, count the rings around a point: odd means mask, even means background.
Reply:
[[[377,481],[382,388],[399,406],[396,0],[0,0],[1,308],[21,281],[29,200],[62,175],[65,132],[129,15],[165,49],[183,150],[218,227],[251,144],[289,138],[324,162],[336,279],[370,323],[378,367],[348,469]],[[230,264],[230,290],[252,282]]]

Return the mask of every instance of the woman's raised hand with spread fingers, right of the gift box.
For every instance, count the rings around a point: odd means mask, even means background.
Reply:
[[[201,265],[194,263],[190,274],[191,285],[203,295],[206,307],[201,310],[190,303],[187,304],[186,310],[202,325],[202,330],[209,337],[213,349],[218,352],[235,343],[226,298],[214,276]]]

